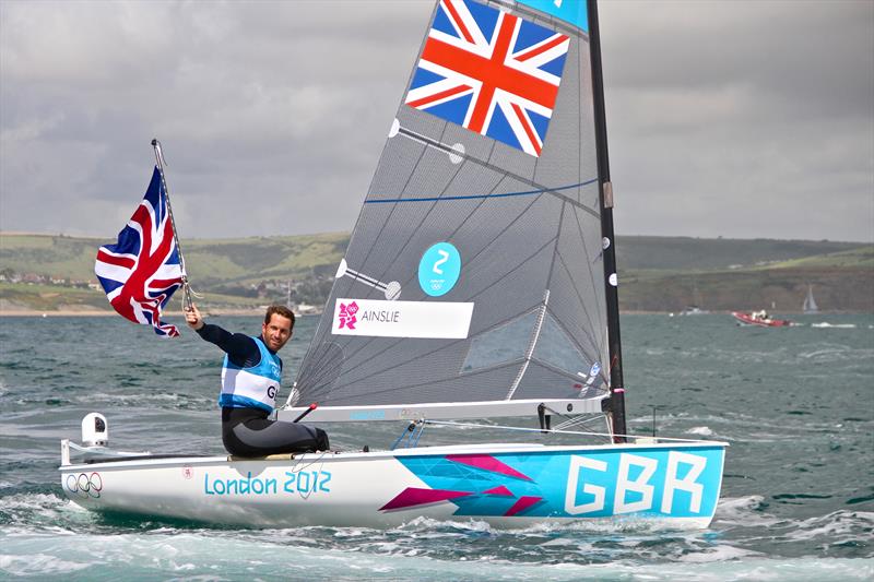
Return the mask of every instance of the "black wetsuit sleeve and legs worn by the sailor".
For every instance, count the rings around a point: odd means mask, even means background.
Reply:
[[[198,335],[221,347],[235,366],[250,368],[261,361],[258,345],[246,334],[231,333],[206,323],[198,330]],[[264,456],[328,450],[328,435],[322,429],[300,423],[270,420],[268,416],[269,413],[262,408],[223,406],[222,442],[227,452],[238,456]]]

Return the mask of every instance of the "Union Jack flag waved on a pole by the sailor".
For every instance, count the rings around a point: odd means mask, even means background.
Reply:
[[[94,272],[119,314],[154,326],[158,335],[179,335],[175,325],[161,322],[161,310],[182,285],[184,273],[157,166],[118,242],[97,251]]]

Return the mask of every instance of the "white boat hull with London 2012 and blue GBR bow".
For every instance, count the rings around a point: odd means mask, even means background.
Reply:
[[[75,503],[253,527],[386,527],[418,516],[507,527],[622,520],[706,527],[725,443],[459,446],[288,459],[139,458],[60,467]],[[276,455],[279,456],[279,455]]]

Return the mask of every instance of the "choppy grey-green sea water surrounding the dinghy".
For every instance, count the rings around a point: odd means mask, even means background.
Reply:
[[[871,580],[874,317],[795,319],[802,325],[760,329],[725,314],[623,317],[629,430],[731,444],[711,526],[681,532],[423,519],[391,530],[249,530],[94,514],[61,491],[59,441],[78,441],[96,411],[114,448],[222,454],[220,351],[187,329],[161,340],[121,318],[2,318],[0,578]],[[211,321],[260,331],[257,317]],[[286,380],[315,324],[302,318],[283,351]],[[399,430],[330,433],[338,448],[385,448]],[[474,440],[472,430],[450,440]]]

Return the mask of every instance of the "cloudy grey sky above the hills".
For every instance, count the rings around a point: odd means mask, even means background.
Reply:
[[[351,230],[433,5],[0,0],[0,230]],[[874,1],[599,10],[619,236],[874,242]]]

